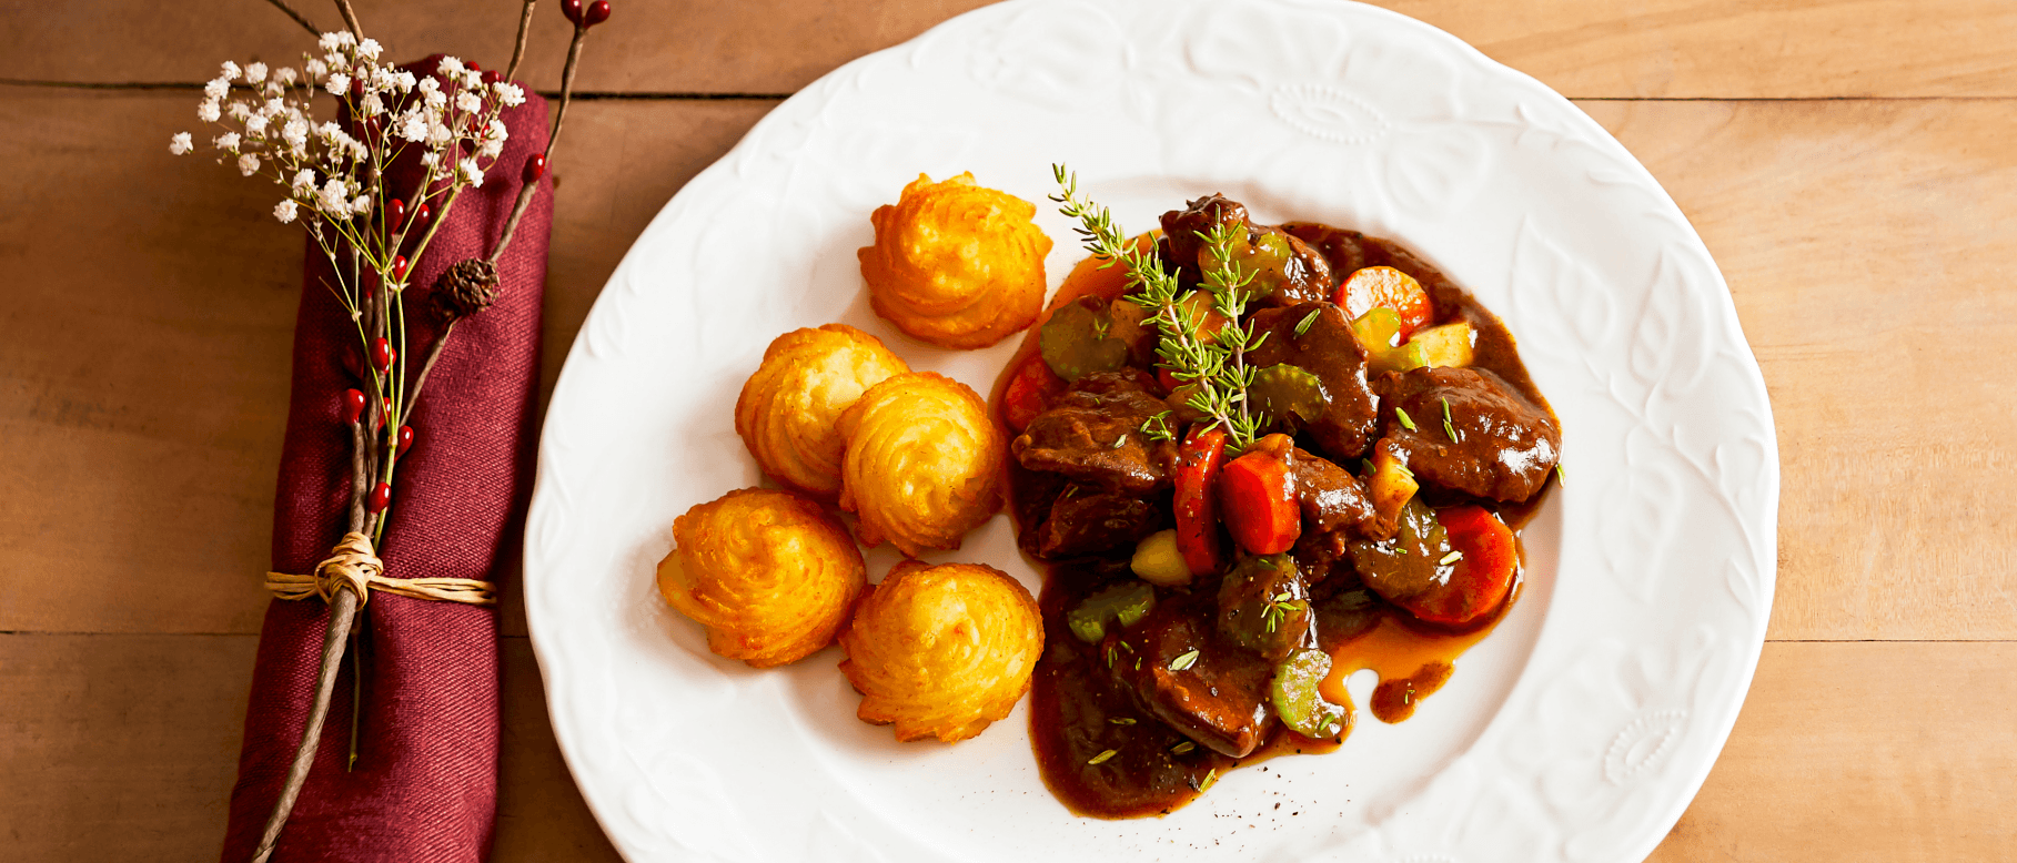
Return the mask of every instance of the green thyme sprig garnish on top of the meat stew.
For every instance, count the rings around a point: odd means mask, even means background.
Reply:
[[[1255,274],[1244,272],[1232,260],[1232,244],[1238,240],[1236,228],[1220,226],[1202,236],[1212,256],[1212,266],[1204,272],[1204,288],[1212,294],[1212,313],[1226,323],[1214,333],[1204,333],[1206,311],[1200,304],[1184,302],[1182,286],[1174,272],[1164,270],[1154,244],[1134,244],[1113,224],[1113,214],[1091,200],[1079,198],[1079,175],[1065,165],[1051,165],[1059,194],[1051,200],[1059,204],[1065,218],[1077,220],[1073,232],[1095,256],[1107,258],[1101,268],[1119,264],[1128,274],[1125,298],[1150,313],[1160,335],[1156,343],[1156,365],[1170,371],[1180,385],[1190,387],[1186,405],[1206,415],[1214,425],[1226,429],[1226,448],[1240,452],[1255,442],[1265,417],[1247,401],[1247,389],[1255,383],[1255,369],[1247,367],[1247,353],[1261,347],[1267,333],[1255,333],[1253,323],[1240,323],[1247,300],[1253,298],[1249,284]],[[1168,417],[1158,413],[1142,423],[1142,434],[1152,440],[1172,440],[1176,436]]]

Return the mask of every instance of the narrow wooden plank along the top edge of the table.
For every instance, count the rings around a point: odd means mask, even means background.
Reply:
[[[1571,97],[2011,97],[2005,0],[1382,0]],[[337,26],[329,4],[299,2]],[[359,0],[395,56],[502,67],[516,4]],[[555,89],[567,22],[537,10],[526,81]],[[581,67],[591,91],[793,93],[980,0],[619,2]],[[107,0],[0,10],[0,79],[202,81],[226,58],[290,60],[307,34],[258,0],[228,8]]]

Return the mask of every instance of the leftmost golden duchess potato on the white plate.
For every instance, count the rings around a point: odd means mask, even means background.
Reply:
[[[861,550],[819,504],[742,488],[672,520],[658,593],[708,629],[708,649],[752,667],[833,643],[867,583]]]

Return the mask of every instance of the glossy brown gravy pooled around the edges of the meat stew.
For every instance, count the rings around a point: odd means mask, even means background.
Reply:
[[[1293,224],[1291,224],[1293,226]],[[1319,228],[1303,224],[1305,228]],[[1343,232],[1341,232],[1343,234]],[[1357,238],[1357,234],[1351,234]],[[1535,405],[1547,401],[1535,389],[1513,343],[1513,335],[1497,315],[1480,306],[1468,292],[1452,284],[1438,270],[1422,264],[1400,246],[1363,238],[1370,254],[1359,254],[1339,262],[1337,252],[1317,242],[1321,252],[1339,264],[1396,266],[1430,290],[1436,302],[1436,321],[1466,319],[1478,333],[1474,365],[1491,369],[1507,379]],[[1368,260],[1370,258],[1370,260]],[[1341,272],[1349,272],[1349,266]],[[1037,351],[1037,331],[1049,319],[1049,311],[1063,306],[1085,294],[1115,298],[1121,290],[1119,268],[1099,270],[1093,258],[1081,260],[1059,286],[1045,317],[1023,337],[1023,345],[1004,365],[996,379],[988,403],[1000,421],[1002,391],[1021,363]],[[1008,510],[1021,530],[1021,514],[1027,496],[1043,494],[1055,486],[1043,482],[1011,460],[1008,466]],[[1497,506],[1499,516],[1519,530],[1557,480],[1535,494],[1525,504]],[[1521,550],[1525,559],[1525,550]],[[1386,605],[1378,597],[1351,597],[1353,601],[1317,603],[1317,643],[1331,653],[1331,673],[1319,686],[1325,700],[1345,708],[1343,732],[1331,740],[1311,740],[1283,726],[1275,726],[1273,738],[1247,758],[1228,758],[1206,746],[1188,742],[1150,716],[1113,677],[1099,667],[1105,659],[1097,645],[1087,645],[1065,627],[1065,611],[1099,587],[1128,579],[1128,559],[1117,561],[1031,561],[1045,571],[1039,607],[1045,619],[1045,655],[1037,663],[1031,686],[1031,742],[1045,786],[1075,815],[1097,819],[1136,819],[1148,815],[1168,815],[1216,782],[1226,770],[1257,764],[1283,754],[1331,752],[1351,734],[1355,706],[1345,692],[1345,680],[1361,669],[1380,675],[1374,688],[1370,710],[1380,722],[1402,722],[1420,708],[1422,700],[1434,696],[1454,673],[1456,659],[1474,643],[1485,639],[1507,609],[1519,601],[1521,585],[1501,609],[1485,623],[1464,631],[1448,631],[1416,621],[1406,611]],[[1210,585],[1204,585],[1206,589]],[[1363,591],[1361,591],[1363,593]],[[1368,599],[1370,597],[1370,599]],[[1125,661],[1125,659],[1123,659]]]

